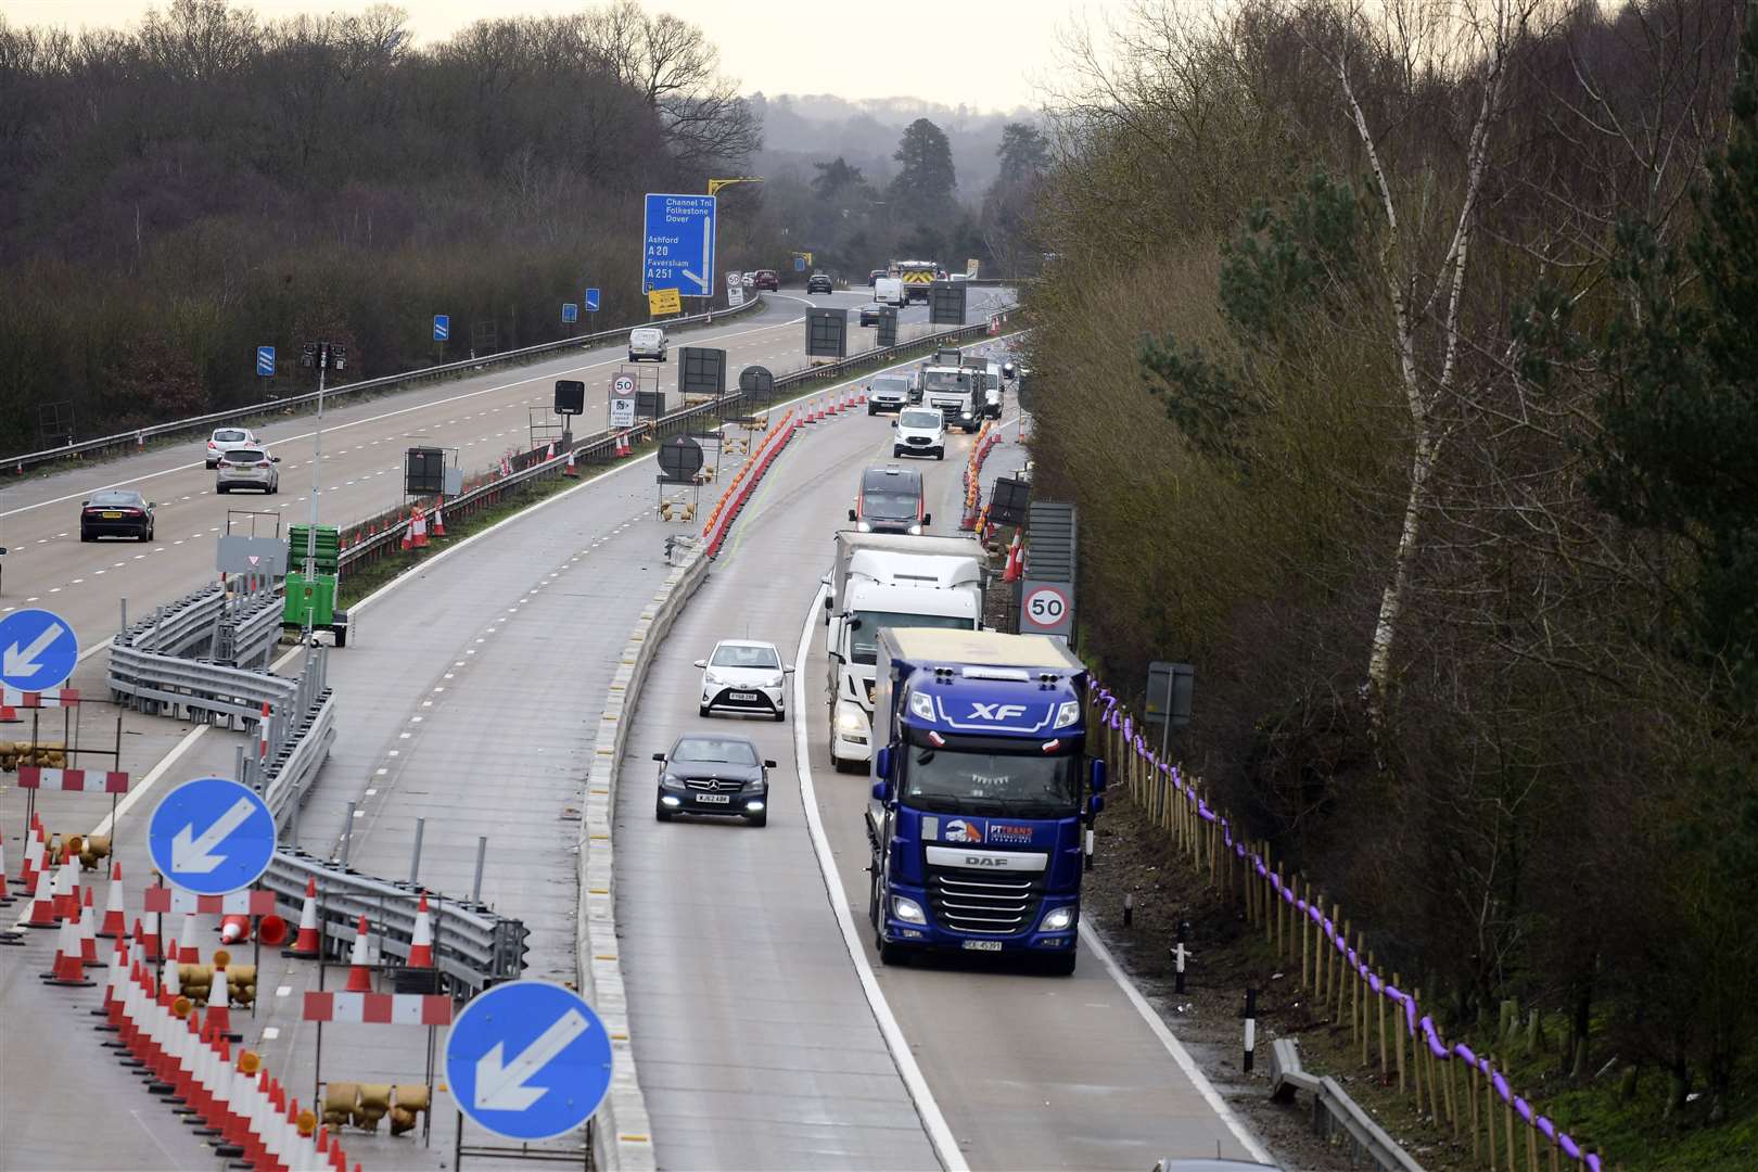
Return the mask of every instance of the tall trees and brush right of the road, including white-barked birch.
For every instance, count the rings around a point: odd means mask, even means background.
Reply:
[[[1085,652],[1631,1168],[1758,1112],[1749,7],[1146,2],[1034,220]]]

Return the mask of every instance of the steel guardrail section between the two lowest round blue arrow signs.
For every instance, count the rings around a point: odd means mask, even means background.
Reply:
[[[353,945],[360,915],[373,928],[381,956],[408,961],[415,938],[415,884],[387,882],[323,863],[304,850],[276,850],[262,886],[297,921],[306,882],[316,886],[318,933],[329,956],[345,956]],[[448,900],[427,893],[432,921],[434,968],[459,988],[478,993],[524,970],[524,942],[531,931],[517,919],[498,915],[483,903]]]

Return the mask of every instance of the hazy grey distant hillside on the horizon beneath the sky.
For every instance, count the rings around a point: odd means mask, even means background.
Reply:
[[[802,174],[810,174],[807,163],[840,155],[875,184],[891,177],[891,151],[904,127],[926,118],[951,142],[958,195],[967,204],[979,202],[995,179],[1000,128],[1009,121],[1037,123],[1037,111],[1032,109],[981,112],[911,97],[851,102],[828,93],[754,93],[749,102],[763,119],[763,149],[754,158],[759,170],[774,172],[793,163]]]

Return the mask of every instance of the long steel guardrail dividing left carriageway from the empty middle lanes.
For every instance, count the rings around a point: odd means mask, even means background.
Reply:
[[[1013,313],[1014,309],[1016,306],[1009,302],[1006,306],[997,306],[993,313]],[[888,358],[900,357],[904,351],[911,351],[919,346],[932,346],[946,341],[962,341],[967,337],[979,337],[986,334],[988,334],[988,323],[977,322],[972,325],[958,325],[949,330],[941,330],[937,334],[923,334],[921,337],[912,337],[895,346],[877,346],[874,350],[863,350],[861,353],[849,355],[835,362],[826,362],[800,371],[789,371],[788,374],[777,374],[775,390],[781,392],[786,388],[803,387],[807,383],[821,380],[835,380],[846,374],[847,371],[858,369],[872,362],[886,362]],[[665,439],[666,436],[673,436],[680,430],[689,430],[689,425],[694,422],[708,418],[719,420],[726,415],[728,409],[740,411],[751,406],[758,406],[756,402],[751,402],[751,399],[752,397],[747,395],[745,392],[735,390],[728,392],[726,395],[721,395],[719,399],[708,399],[707,402],[698,402],[687,408],[668,411],[666,415],[661,415],[657,420],[650,420],[652,425],[650,434],[656,439]],[[768,406],[768,397],[761,406]],[[610,453],[617,446],[617,436],[622,430],[629,429],[607,429],[575,439],[573,443],[575,459],[577,460],[582,457],[587,460],[610,459]],[[515,488],[533,480],[559,476],[568,464],[568,453],[570,450],[564,448],[563,445],[556,445],[554,457],[545,457],[543,452],[524,452],[517,459],[510,460],[513,466],[512,474],[483,481],[482,485],[476,485],[475,488],[464,494],[450,497],[447,501],[447,508],[457,508],[468,511],[478,501],[483,501],[490,496],[499,496],[508,488]],[[376,557],[380,552],[383,552],[392,545],[401,545],[403,534],[408,531],[408,527],[410,520],[404,517],[389,522],[383,529],[380,529],[371,536],[357,538],[352,545],[346,545],[341,550],[338,559],[339,569],[345,571],[348,566]]]

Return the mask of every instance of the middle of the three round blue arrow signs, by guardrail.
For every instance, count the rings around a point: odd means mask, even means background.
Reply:
[[[158,799],[146,850],[172,887],[199,896],[243,891],[274,857],[274,815],[250,785],[199,777]]]

